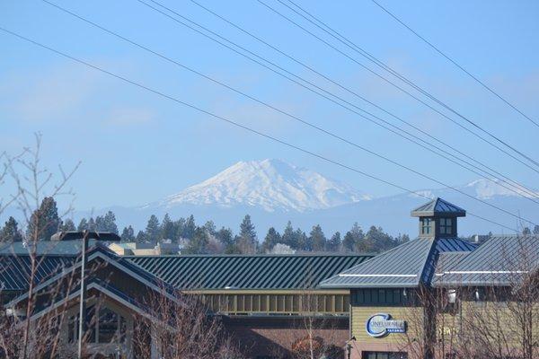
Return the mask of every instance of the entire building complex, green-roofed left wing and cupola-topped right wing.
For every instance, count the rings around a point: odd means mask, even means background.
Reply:
[[[112,324],[97,321],[90,349],[102,357],[137,357],[133,332],[150,315],[147,298],[155,293],[176,301],[172,293],[180,291],[196,294],[255,358],[287,355],[306,331],[344,349],[337,355],[347,359],[539,357],[539,237],[464,241],[457,229],[466,212],[441,198],[411,215],[419,219],[418,237],[376,256],[119,256],[93,243],[86,293],[102,299],[99,318]],[[41,265],[31,319],[39,323],[63,305],[66,346],[76,341],[80,286],[69,279],[80,276],[77,243],[40,242],[36,249]],[[15,316],[25,315],[28,301],[24,253],[22,244],[0,249],[2,300]],[[50,288],[62,292],[51,295]],[[153,339],[148,347],[159,356]]]

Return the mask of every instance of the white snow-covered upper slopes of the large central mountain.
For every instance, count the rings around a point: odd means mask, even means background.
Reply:
[[[147,207],[251,206],[267,212],[305,212],[368,199],[349,185],[315,171],[280,160],[263,160],[237,162],[216,176]]]

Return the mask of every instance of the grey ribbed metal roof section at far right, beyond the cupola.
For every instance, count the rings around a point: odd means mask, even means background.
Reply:
[[[440,273],[435,285],[513,285],[539,268],[539,236],[494,236]]]

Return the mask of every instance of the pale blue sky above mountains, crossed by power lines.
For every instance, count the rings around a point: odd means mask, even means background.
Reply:
[[[278,2],[266,1],[286,12]],[[186,66],[439,180],[461,184],[478,177],[305,92],[137,1],[55,2]],[[516,144],[532,157],[539,157],[537,127],[427,48],[375,4],[366,0],[297,2],[482,127]],[[200,3],[376,101],[384,109],[425,128],[433,136],[534,187],[537,173],[381,83],[257,1],[200,0]],[[539,118],[538,2],[381,0],[381,3],[527,115]],[[190,1],[163,0],[163,4],[290,71],[339,92]],[[208,83],[41,1],[2,2],[0,24],[111,72],[404,187],[439,187]],[[263,158],[280,158],[320,171],[376,196],[398,192],[357,173],[216,122],[4,33],[0,33],[0,45],[0,150],[14,153],[31,144],[32,133],[40,131],[43,161],[51,169],[58,163],[68,167],[82,161],[71,183],[77,192],[75,206],[79,209],[144,204],[205,180],[234,162]],[[350,52],[350,55],[367,64],[357,54]],[[370,109],[346,92],[339,93]]]

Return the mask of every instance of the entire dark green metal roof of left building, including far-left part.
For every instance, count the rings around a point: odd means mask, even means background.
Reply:
[[[161,281],[176,289],[308,289],[340,271],[374,257],[368,254],[299,255],[191,255],[117,256],[101,243],[94,245],[88,258],[100,256],[144,278]],[[67,268],[80,265],[78,256],[38,257],[36,284],[50,280]],[[3,290],[23,291],[29,285],[30,257],[0,255],[0,285]]]

